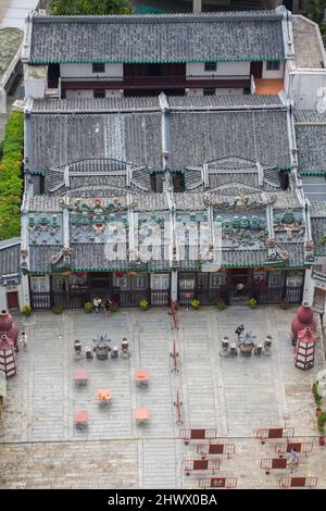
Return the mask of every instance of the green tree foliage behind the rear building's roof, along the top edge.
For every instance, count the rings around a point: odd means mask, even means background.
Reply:
[[[130,14],[129,0],[53,0],[50,11],[57,16],[87,14]]]

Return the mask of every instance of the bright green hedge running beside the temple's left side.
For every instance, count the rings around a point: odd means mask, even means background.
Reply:
[[[21,234],[23,112],[13,111],[5,124],[0,162],[0,240]]]

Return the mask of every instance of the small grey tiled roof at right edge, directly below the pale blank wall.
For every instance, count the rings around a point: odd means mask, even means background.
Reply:
[[[296,135],[299,172],[326,173],[326,114],[297,111]]]

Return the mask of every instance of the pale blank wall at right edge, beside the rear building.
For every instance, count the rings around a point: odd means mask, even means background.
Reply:
[[[290,73],[289,96],[296,108],[326,112],[326,70]]]

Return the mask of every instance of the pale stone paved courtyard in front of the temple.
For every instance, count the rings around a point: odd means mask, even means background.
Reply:
[[[293,366],[289,325],[294,309],[244,307],[179,312],[172,331],[166,309],[121,310],[109,319],[65,311],[34,313],[17,322],[28,333],[28,350],[18,354],[18,375],[8,385],[0,444],[1,488],[197,488],[199,476],[183,475],[181,461],[197,458],[184,446],[176,425],[176,392],[183,401],[181,427],[214,427],[221,440],[236,445],[236,454],[221,457],[221,476],[238,477],[238,487],[276,488],[288,470],[265,475],[261,458],[275,458],[275,441],[262,446],[259,427],[296,428],[296,439],[313,443],[299,454],[296,475],[318,476],[326,488],[325,448],[318,446],[311,386],[325,366],[317,342],[315,367]],[[273,336],[271,357],[222,358],[224,335],[234,338],[243,323],[262,340]],[[130,339],[129,359],[74,360],[73,341],[90,344],[108,333],[111,345]],[[179,373],[172,372],[170,351],[177,341]],[[75,387],[74,371],[88,371],[87,387]],[[135,370],[147,370],[148,388],[137,388]],[[110,410],[98,408],[96,391],[108,387]],[[136,408],[150,410],[150,422],[137,426]],[[74,428],[76,409],[89,414],[87,432]],[[324,451],[323,451],[324,449]],[[324,456],[323,456],[324,453]],[[200,474],[200,477],[205,474]]]

